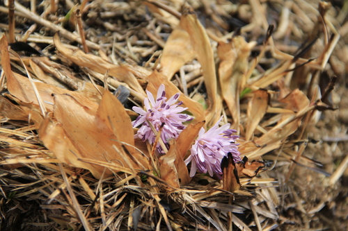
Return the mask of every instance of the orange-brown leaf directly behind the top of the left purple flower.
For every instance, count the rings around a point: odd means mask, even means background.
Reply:
[[[166,87],[167,99],[177,94],[177,92],[180,92],[180,89],[177,89],[177,87],[175,87],[175,85],[171,83],[171,81],[169,81],[165,76],[159,74],[157,71],[153,71],[152,74],[148,77],[148,91],[150,91],[154,96],[157,95],[157,89],[159,89],[159,85],[161,84]],[[183,107],[188,108],[187,111],[193,115],[193,122],[205,120],[203,106],[200,105],[200,103],[193,101],[184,94],[180,94],[178,100],[182,101]]]

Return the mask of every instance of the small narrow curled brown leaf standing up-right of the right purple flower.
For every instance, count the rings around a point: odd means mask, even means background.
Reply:
[[[246,120],[246,141],[251,139],[255,128],[266,114],[269,105],[269,94],[265,89],[258,89],[253,92],[253,98],[248,103],[246,112],[248,119]]]

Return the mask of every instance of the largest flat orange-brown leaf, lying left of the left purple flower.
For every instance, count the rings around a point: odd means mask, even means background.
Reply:
[[[131,162],[132,165],[137,166],[132,159],[123,160],[124,156],[115,151],[113,146],[122,151],[121,144],[115,141],[117,137],[113,131],[106,126],[103,119],[97,116],[97,107],[88,108],[73,96],[57,94],[54,95],[54,117],[61,124],[66,137],[70,139],[72,146],[81,154],[81,157],[113,162],[116,165],[127,167],[127,162]],[[63,155],[74,154],[66,152]],[[69,156],[65,158],[70,159]],[[104,167],[96,164],[93,170],[89,170],[98,178],[102,176]],[[111,171],[106,171],[105,176],[110,173]]]

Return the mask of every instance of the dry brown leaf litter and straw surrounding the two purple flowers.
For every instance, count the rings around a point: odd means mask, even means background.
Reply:
[[[338,198],[347,191],[333,186],[347,179],[347,157],[324,169],[308,153],[313,130],[324,129],[320,114],[338,114],[334,75],[342,82],[347,71],[347,7],[19,1],[13,11],[13,3],[0,8],[8,15],[0,25],[8,31],[0,41],[1,229],[345,229],[322,209],[344,209]],[[193,117],[161,144],[165,155],[134,139],[130,106],[142,106],[145,89],[155,96],[161,84],[168,99],[182,92],[178,100]],[[190,178],[189,149],[221,115],[221,126],[237,130],[244,159],[227,155],[222,180]],[[161,132],[156,142],[167,142]],[[340,153],[338,142],[318,146]],[[314,189],[306,200],[303,178],[332,191],[315,200]],[[27,218],[18,222],[20,213]],[[345,221],[344,212],[335,219]]]

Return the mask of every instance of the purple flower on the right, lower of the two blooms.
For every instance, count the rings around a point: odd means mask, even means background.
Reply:
[[[200,173],[214,174],[221,179],[221,160],[227,156],[227,153],[232,153],[235,162],[242,161],[239,156],[238,145],[235,140],[238,135],[232,135],[236,130],[229,129],[230,123],[227,123],[219,128],[219,121],[205,132],[204,128],[200,128],[198,138],[195,144],[191,147],[191,155],[185,160],[185,164],[191,163],[190,176],[193,177],[198,170]]]

